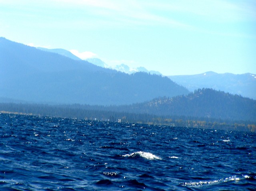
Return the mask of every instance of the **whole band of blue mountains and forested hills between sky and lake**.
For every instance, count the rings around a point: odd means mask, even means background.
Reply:
[[[129,69],[126,65],[121,67]],[[196,119],[196,124],[201,123],[200,118],[256,122],[256,100],[241,96],[245,93],[248,97],[255,96],[256,77],[250,73],[206,72],[164,77],[152,75],[141,67],[144,72],[128,74],[106,68],[100,59],[84,61],[64,49],[35,48],[3,37],[0,37],[0,68],[0,102],[41,104],[39,108],[36,104],[26,104],[27,110],[22,109],[25,104],[16,104],[16,109],[12,104],[2,104],[2,109],[7,106],[3,111],[40,113],[44,110],[45,114],[54,115],[65,108],[64,116],[95,116],[114,121],[143,118],[144,122],[161,124],[166,120],[171,124],[172,118],[179,124],[177,120],[183,118],[180,123],[183,125],[188,118]],[[230,93],[216,91],[228,87]]]

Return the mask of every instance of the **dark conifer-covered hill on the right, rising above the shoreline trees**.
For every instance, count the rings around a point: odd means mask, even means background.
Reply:
[[[213,89],[198,89],[189,95],[155,98],[144,103],[107,109],[161,116],[196,116],[256,121],[256,100]]]

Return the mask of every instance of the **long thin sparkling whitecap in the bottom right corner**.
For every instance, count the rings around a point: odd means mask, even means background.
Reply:
[[[225,183],[225,182],[230,182],[230,181],[240,181],[242,179],[250,178],[248,175],[242,175],[242,177],[236,177],[236,176],[231,176],[223,179],[218,179],[218,180],[210,180],[210,181],[198,181],[198,182],[185,182],[185,183],[180,183],[182,186],[186,187],[199,187],[199,186],[204,186],[204,185],[215,185],[215,184],[220,184],[220,183]]]

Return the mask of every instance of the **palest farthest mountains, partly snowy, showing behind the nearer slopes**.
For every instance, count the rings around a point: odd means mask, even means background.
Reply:
[[[75,60],[81,60],[71,52],[64,49],[46,49],[39,48],[44,51],[50,51],[70,57]],[[98,58],[89,58],[86,61],[104,68],[115,69],[124,73],[132,74],[136,72],[146,72],[150,74],[161,75],[158,71],[148,71],[144,67],[130,68],[128,65],[121,64],[109,66]],[[186,87],[190,92],[202,88],[212,88],[217,91],[242,95],[244,97],[256,99],[256,75],[251,73],[235,75],[232,73],[218,74],[212,71],[197,75],[176,75],[168,76],[172,81]]]

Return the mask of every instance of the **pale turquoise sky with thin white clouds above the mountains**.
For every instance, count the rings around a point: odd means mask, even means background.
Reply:
[[[256,74],[255,0],[0,0],[0,36],[163,75]]]

